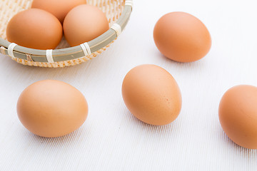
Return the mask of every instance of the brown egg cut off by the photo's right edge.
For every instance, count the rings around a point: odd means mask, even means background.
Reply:
[[[257,149],[257,88],[235,86],[222,97],[218,110],[221,126],[233,142]]]

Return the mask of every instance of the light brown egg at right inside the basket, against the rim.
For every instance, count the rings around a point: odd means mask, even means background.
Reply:
[[[64,19],[64,36],[70,46],[91,41],[108,30],[108,19],[96,6],[76,6]]]

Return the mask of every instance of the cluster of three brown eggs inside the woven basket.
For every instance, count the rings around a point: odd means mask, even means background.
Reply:
[[[8,41],[26,48],[56,48],[63,37],[78,46],[108,31],[109,21],[85,0],[34,0],[31,9],[16,14],[7,25]]]

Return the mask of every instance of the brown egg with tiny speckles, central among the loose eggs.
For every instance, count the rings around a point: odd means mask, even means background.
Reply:
[[[155,65],[136,66],[122,85],[126,107],[144,123],[166,125],[178,117],[181,93],[168,71]]]

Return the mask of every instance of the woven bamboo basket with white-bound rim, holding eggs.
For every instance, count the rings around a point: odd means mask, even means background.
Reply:
[[[124,30],[131,15],[132,0],[87,0],[87,4],[99,7],[107,19],[110,29],[92,41],[69,47],[63,40],[54,50],[37,50],[10,43],[6,40],[6,26],[12,16],[29,9],[33,0],[0,0],[0,48],[1,53],[27,66],[59,68],[75,66],[89,61],[106,50]]]

